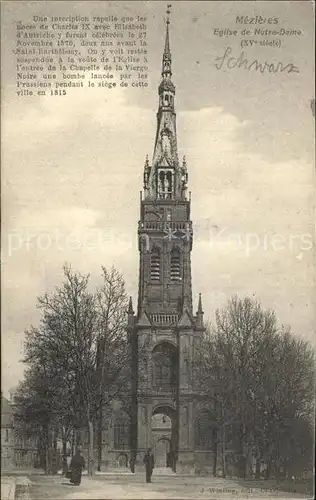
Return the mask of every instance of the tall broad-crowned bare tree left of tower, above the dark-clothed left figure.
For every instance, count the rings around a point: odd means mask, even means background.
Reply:
[[[41,323],[38,329],[27,332],[25,362],[45,367],[51,383],[62,393],[60,400],[70,402],[69,408],[75,413],[73,421],[86,419],[91,442],[97,341],[95,297],[88,291],[89,276],[64,266],[64,277],[61,287],[38,299]]]

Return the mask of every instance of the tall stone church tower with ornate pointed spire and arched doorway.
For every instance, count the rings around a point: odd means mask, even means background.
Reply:
[[[150,164],[144,166],[140,200],[138,311],[129,310],[135,337],[132,428],[142,463],[152,448],[156,467],[193,468],[195,401],[193,349],[201,336],[201,297],[192,309],[190,196],[185,158],[177,149],[176,88],[172,81],[167,11],[157,132]]]

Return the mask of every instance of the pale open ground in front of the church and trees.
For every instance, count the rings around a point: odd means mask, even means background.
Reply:
[[[211,477],[156,475],[153,476],[151,484],[146,484],[143,474],[99,475],[94,478],[83,476],[79,487],[71,486],[69,481],[61,476],[31,475],[29,479],[20,477],[16,480],[16,500],[312,498],[294,491],[277,492],[272,483],[269,489],[265,482],[252,481],[241,484],[234,480]],[[6,500],[5,497],[2,498]]]

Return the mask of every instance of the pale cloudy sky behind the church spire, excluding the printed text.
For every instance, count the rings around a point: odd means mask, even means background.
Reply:
[[[153,153],[164,44],[164,2],[2,2],[2,390],[23,377],[24,331],[36,298],[61,283],[70,263],[100,283],[101,265],[124,275],[137,301],[139,191]],[[15,94],[17,20],[32,15],[144,15],[149,85],[75,89],[62,98]],[[217,69],[238,57],[236,16],[274,16],[280,48],[246,47],[252,60],[292,63],[299,73]],[[311,2],[182,2],[172,5],[170,42],[179,157],[187,158],[193,301],[205,317],[238,294],[273,308],[313,341],[314,24]],[[218,59],[217,59],[218,60]],[[58,241],[56,241],[58,234]]]

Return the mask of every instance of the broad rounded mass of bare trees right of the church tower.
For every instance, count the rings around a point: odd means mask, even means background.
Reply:
[[[224,475],[229,434],[243,477],[252,473],[253,458],[257,477],[261,463],[269,477],[272,469],[277,476],[281,468],[289,469],[294,448],[303,457],[297,444],[299,435],[308,435],[312,420],[314,353],[278,325],[273,311],[249,298],[232,298],[217,311],[216,325],[197,349],[196,360],[204,397],[217,402]]]

